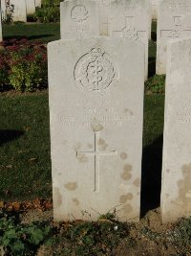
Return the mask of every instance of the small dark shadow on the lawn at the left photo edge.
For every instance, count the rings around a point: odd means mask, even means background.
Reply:
[[[9,141],[15,140],[22,136],[25,132],[23,130],[1,129],[0,130],[0,146]]]

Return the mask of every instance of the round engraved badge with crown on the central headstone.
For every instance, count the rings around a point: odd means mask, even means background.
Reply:
[[[74,67],[74,81],[86,91],[101,91],[117,80],[117,67],[101,47],[92,50],[78,59]]]

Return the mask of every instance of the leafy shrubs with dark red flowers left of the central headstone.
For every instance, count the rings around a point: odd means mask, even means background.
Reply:
[[[47,87],[47,49],[26,39],[4,41],[0,46],[0,89],[32,91]]]

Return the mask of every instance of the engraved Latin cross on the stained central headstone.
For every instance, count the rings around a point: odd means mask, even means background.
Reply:
[[[99,151],[99,131],[95,131],[95,149],[94,151],[76,151],[76,156],[80,157],[83,154],[87,156],[93,156],[95,158],[95,188],[94,191],[98,192],[99,191],[99,158],[100,156],[112,156],[112,155],[117,155],[117,150],[115,151]]]

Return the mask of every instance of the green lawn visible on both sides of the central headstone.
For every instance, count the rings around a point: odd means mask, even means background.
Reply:
[[[144,149],[158,149],[156,141],[163,128],[163,98],[161,95],[145,97]],[[51,198],[48,94],[1,96],[0,117],[0,198]],[[145,169],[145,173],[153,171]]]

